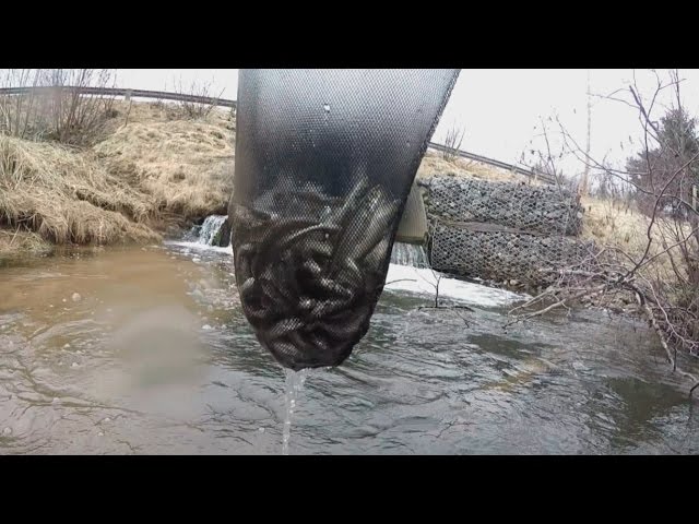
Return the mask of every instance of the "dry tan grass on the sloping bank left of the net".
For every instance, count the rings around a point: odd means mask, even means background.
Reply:
[[[107,138],[92,147],[0,135],[0,254],[43,252],[47,241],[157,241],[156,230],[225,213],[235,120],[226,109],[180,112],[115,102]]]

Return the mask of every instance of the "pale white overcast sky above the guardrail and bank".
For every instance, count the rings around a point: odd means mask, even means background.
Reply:
[[[680,70],[679,73],[680,79],[685,79],[682,86],[684,104],[690,114],[697,115],[699,70]],[[177,81],[185,86],[198,81],[211,83],[216,95],[223,93],[224,98],[236,98],[237,74],[237,69],[121,69],[117,72],[117,84],[165,90],[171,88]],[[635,74],[641,93],[650,98],[654,91],[655,76],[649,70],[464,69],[433,140],[442,142],[451,126],[464,127],[463,150],[514,164],[520,162],[524,151],[545,147],[541,118],[549,128],[552,148],[555,153],[561,151],[557,124],[547,121],[548,117],[558,115],[566,129],[584,147],[588,74],[590,90],[595,94],[607,95],[621,88],[618,96],[630,100],[628,85]],[[659,70],[657,74],[664,82],[668,80],[666,70]],[[672,95],[671,90],[665,90],[659,102],[668,107]],[[592,103],[591,155],[600,160],[607,155],[608,160],[623,165],[626,157],[640,150],[638,112],[618,102],[593,97]],[[652,116],[660,119],[663,112],[659,106]],[[530,158],[525,157],[526,160]],[[581,169],[570,155],[560,160],[560,166],[570,175]]]

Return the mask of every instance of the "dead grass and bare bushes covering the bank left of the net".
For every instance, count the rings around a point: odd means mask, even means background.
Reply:
[[[8,83],[105,85],[93,70],[4,70]],[[46,80],[48,79],[48,81]],[[153,242],[225,212],[235,115],[38,90],[0,97],[0,257]]]

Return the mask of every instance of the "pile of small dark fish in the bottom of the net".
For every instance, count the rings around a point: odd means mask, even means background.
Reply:
[[[259,341],[283,366],[337,366],[383,289],[400,201],[366,177],[345,198],[309,184],[235,204],[236,281]]]

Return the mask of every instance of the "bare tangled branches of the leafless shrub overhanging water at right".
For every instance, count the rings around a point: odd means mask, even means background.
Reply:
[[[632,84],[625,90],[632,103],[616,96],[621,91],[607,95],[609,99],[633,107],[642,126],[643,151],[640,157],[629,159],[626,170],[614,169],[605,160],[600,163],[592,158],[588,147],[582,148],[557,119],[565,147],[584,163],[585,169],[594,167],[609,180],[620,181],[621,188],[632,188],[626,193],[628,202],[630,198],[636,198],[644,206],[642,211],[650,219],[643,226],[645,238],[640,258],[619,246],[611,246],[605,248],[604,257],[600,252],[565,269],[540,270],[550,273],[552,279],[557,278],[556,284],[512,309],[510,314],[518,313],[517,318],[506,326],[556,308],[568,307],[568,303],[585,297],[603,295],[612,298],[619,291],[633,293],[639,312],[648,318],[650,326],[657,334],[673,372],[692,380],[691,396],[699,388],[699,381],[679,368],[678,357],[682,348],[694,355],[699,347],[696,340],[699,329],[699,212],[687,202],[687,194],[696,183],[699,139],[689,134],[694,133],[694,120],[684,116],[678,73],[671,74],[670,83],[663,82],[655,73],[655,82],[654,92],[645,100],[638,87],[636,73]],[[670,86],[675,88],[676,108],[666,108],[673,112],[668,112],[661,124],[653,120],[653,111],[659,106],[663,107],[659,103],[660,94]],[[550,159],[548,142],[546,150]],[[543,158],[542,153],[540,156]],[[670,223],[663,217],[663,210],[667,205],[673,213]],[[660,248],[653,249],[657,245]],[[670,259],[672,269],[660,263],[663,257]],[[672,282],[666,278],[672,278]],[[548,305],[548,299],[553,303]],[[540,309],[521,313],[530,307]]]

